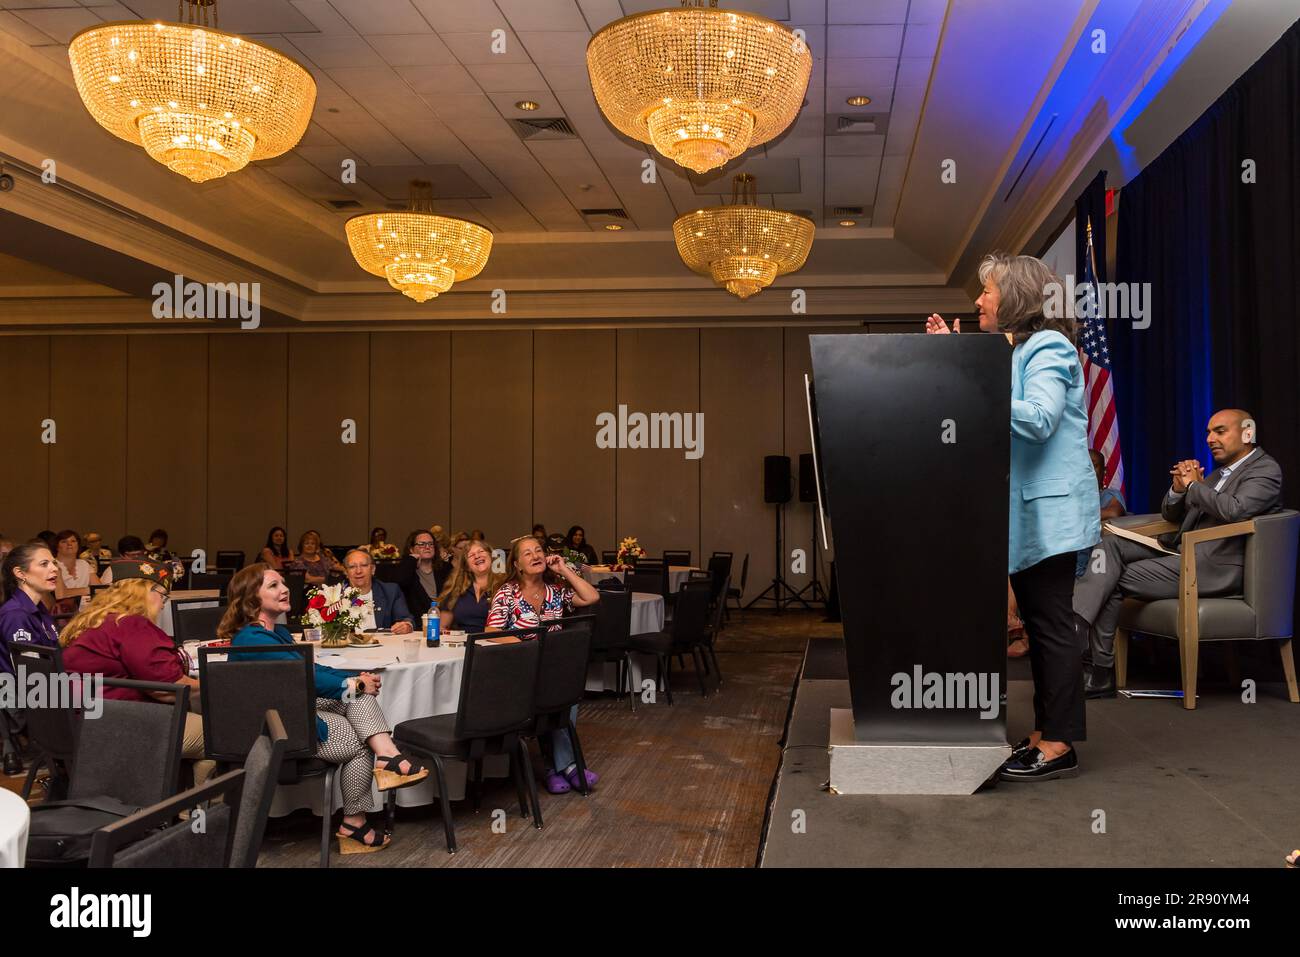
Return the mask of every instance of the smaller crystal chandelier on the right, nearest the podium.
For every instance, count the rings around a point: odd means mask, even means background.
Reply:
[[[801,269],[815,230],[812,220],[758,205],[758,187],[749,173],[732,181],[731,205],[697,209],[672,224],[682,261],[741,299]]]

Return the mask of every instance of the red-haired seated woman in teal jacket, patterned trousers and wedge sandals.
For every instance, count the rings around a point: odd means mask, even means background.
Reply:
[[[364,555],[354,551],[348,554]],[[369,557],[367,557],[367,560]],[[217,637],[240,645],[292,645],[294,637],[276,619],[289,611],[289,586],[274,568],[251,564],[230,580],[229,606],[217,625]],[[238,653],[231,653],[231,658]],[[294,651],[259,653],[265,657],[298,658]],[[378,675],[315,666],[316,671],[316,755],[321,761],[342,765],[339,787],[343,792],[343,820],[339,824],[339,849],[354,841],[355,850],[378,850],[389,845],[389,835],[367,823],[370,807],[370,781],[380,791],[411,784],[429,776],[420,762],[399,753],[393,744],[387,720],[380,710]],[[376,758],[382,766],[377,766]]]

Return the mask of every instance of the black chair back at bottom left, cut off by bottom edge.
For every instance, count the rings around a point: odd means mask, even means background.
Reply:
[[[244,772],[230,771],[202,788],[192,788],[101,827],[91,839],[90,866],[230,866],[235,831],[243,811],[240,792],[244,785]],[[221,804],[202,809],[202,828],[194,827],[192,818],[176,822],[176,815],[182,810],[192,810],[217,798],[221,798]]]

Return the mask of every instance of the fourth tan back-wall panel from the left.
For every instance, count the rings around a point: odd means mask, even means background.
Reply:
[[[208,337],[209,555],[239,549],[254,562],[266,529],[286,524],[287,338]]]

